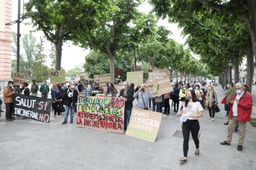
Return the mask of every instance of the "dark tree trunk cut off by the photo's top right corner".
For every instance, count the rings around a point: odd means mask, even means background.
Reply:
[[[247,26],[250,31],[250,38],[252,39],[252,49],[254,51],[254,57],[256,60],[256,1],[255,0],[247,0],[248,7],[248,20]]]

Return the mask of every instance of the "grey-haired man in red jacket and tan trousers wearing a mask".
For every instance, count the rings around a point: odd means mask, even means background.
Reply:
[[[236,84],[236,92],[229,100],[229,124],[228,124],[228,136],[221,145],[230,145],[233,129],[239,125],[239,140],[237,150],[242,151],[242,145],[244,144],[245,129],[247,121],[250,121],[250,115],[252,115],[252,95],[245,91],[244,84]]]

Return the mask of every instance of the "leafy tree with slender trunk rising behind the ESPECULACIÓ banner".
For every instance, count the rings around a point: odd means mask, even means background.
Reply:
[[[114,60],[117,50],[124,49],[124,39],[129,33],[129,24],[137,16],[137,7],[139,1],[118,0],[112,1],[111,11],[108,15],[103,15],[98,20],[98,27],[93,33],[86,36],[80,36],[79,42],[83,46],[90,46],[93,50],[98,50],[108,55],[110,61],[111,81],[114,81]],[[83,31],[83,30],[80,30]],[[79,33],[83,34],[86,33]]]

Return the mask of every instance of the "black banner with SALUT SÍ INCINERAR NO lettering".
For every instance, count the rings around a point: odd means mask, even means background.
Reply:
[[[14,94],[14,114],[49,123],[51,103],[51,99]]]

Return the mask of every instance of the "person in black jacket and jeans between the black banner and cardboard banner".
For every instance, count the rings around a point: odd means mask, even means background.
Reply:
[[[75,103],[77,102],[77,96],[78,96],[78,92],[74,89],[74,87],[75,87],[74,83],[70,83],[69,88],[66,89],[64,93],[64,105],[66,105],[66,112],[65,112],[64,121],[62,122],[62,124],[67,123],[69,110],[70,110],[70,123],[73,123]]]

